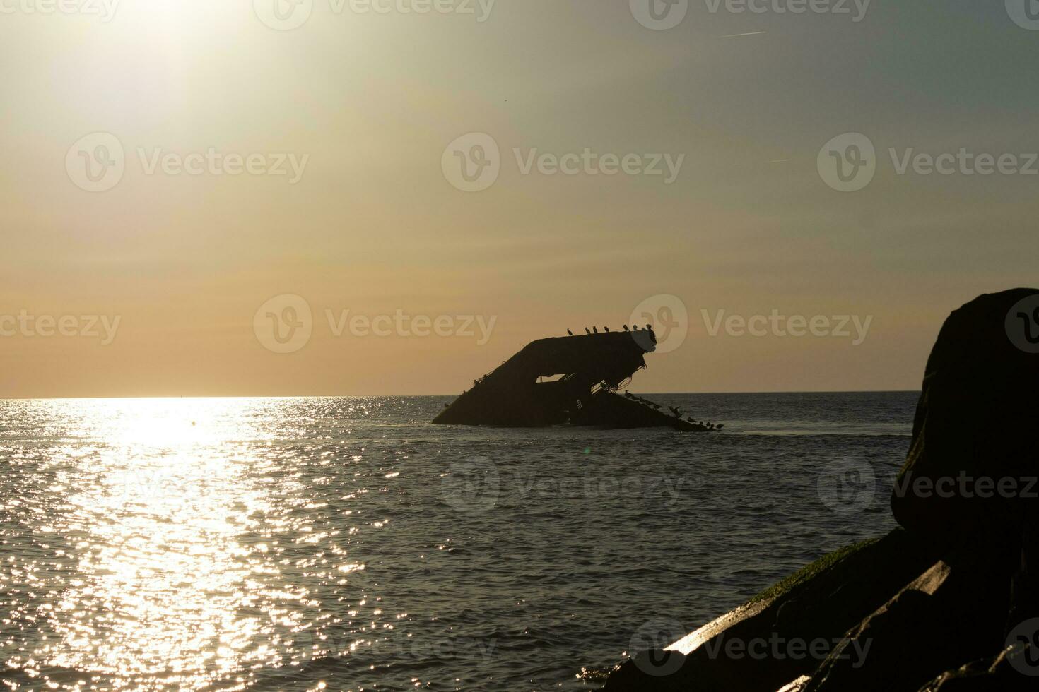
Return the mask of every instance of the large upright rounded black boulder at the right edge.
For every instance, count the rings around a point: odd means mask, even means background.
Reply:
[[[1039,475],[1039,354],[1022,350],[1024,335],[1013,331],[1017,315],[1011,314],[1032,296],[1039,289],[981,296],[942,326],[891,495],[895,519],[908,530],[947,546],[986,548],[1017,541],[1019,533],[1007,527],[1025,517],[1035,521],[1034,499],[993,492],[981,480],[1013,479],[1019,491],[1032,486],[1039,493],[1029,480]]]

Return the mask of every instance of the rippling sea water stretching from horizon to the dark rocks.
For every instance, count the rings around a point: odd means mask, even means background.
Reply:
[[[0,681],[588,690],[894,526],[915,393],[647,395],[712,435],[430,425],[448,397],[0,402]]]

